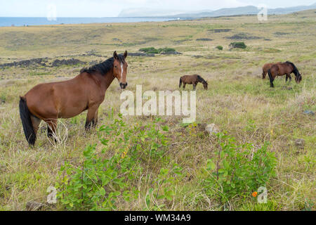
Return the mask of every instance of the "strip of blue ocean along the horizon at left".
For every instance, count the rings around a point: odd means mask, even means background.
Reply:
[[[177,18],[136,18],[136,17],[105,17],[105,18],[57,18],[48,20],[41,17],[0,17],[0,27],[34,26],[34,25],[58,25],[81,23],[138,23],[138,22],[162,22],[176,20]]]

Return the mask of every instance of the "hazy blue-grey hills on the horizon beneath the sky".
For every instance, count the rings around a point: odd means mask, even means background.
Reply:
[[[310,6],[294,6],[289,8],[268,8],[268,14],[287,14],[316,8],[316,3]],[[237,8],[221,8],[216,11],[205,10],[199,12],[176,13],[176,10],[152,10],[133,8],[121,11],[119,17],[165,17],[165,18],[204,18],[225,15],[256,15],[260,10],[256,6],[242,6]]]

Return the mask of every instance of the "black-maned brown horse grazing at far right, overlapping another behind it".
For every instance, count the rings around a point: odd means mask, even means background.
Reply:
[[[285,82],[287,82],[288,77],[291,81],[291,79],[292,79],[291,73],[292,72],[295,75],[296,83],[301,82],[302,75],[300,74],[300,72],[298,72],[298,69],[296,68],[294,63],[287,61],[285,63],[279,63],[279,64],[272,65],[272,67],[268,70],[268,75],[270,78],[270,86],[274,87],[273,81],[275,80],[275,77],[277,77],[277,76],[287,75]]]

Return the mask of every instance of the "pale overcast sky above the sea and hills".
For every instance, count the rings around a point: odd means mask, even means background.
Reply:
[[[0,0],[0,17],[46,17],[55,5],[59,17],[114,17],[125,8],[162,8],[181,11],[216,10],[237,6],[269,8],[311,5],[316,0]]]

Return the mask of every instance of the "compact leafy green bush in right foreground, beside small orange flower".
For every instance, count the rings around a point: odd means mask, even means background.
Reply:
[[[235,197],[246,198],[275,176],[277,159],[267,150],[268,143],[255,150],[250,143],[237,146],[228,135],[216,136],[219,150],[215,158],[207,161],[206,194],[213,194],[215,188],[224,203]]]

